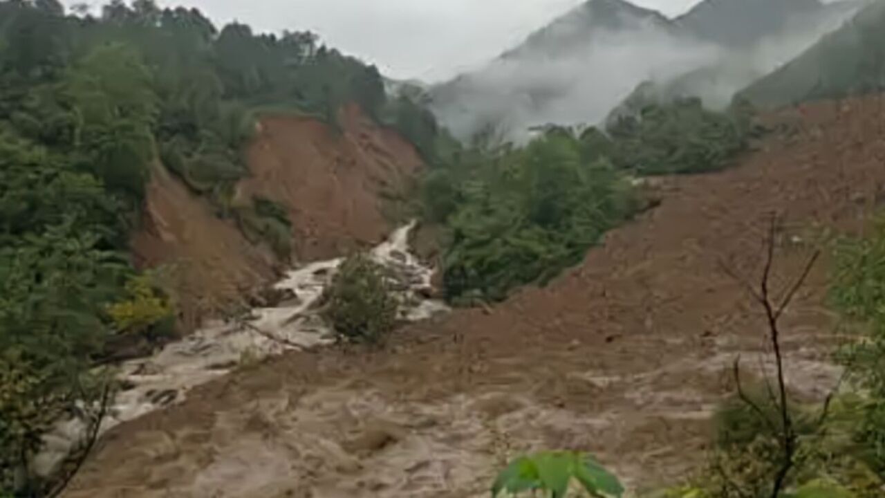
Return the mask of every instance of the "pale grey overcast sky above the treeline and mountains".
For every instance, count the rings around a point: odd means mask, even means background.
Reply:
[[[158,4],[196,6],[216,24],[236,19],[260,31],[310,29],[329,45],[376,64],[383,74],[433,82],[496,57],[582,1],[158,0]],[[634,3],[672,16],[696,2]]]

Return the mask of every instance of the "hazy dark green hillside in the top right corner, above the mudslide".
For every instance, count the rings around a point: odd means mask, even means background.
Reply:
[[[885,89],[885,1],[866,5],[849,22],[798,58],[741,92],[776,106]]]

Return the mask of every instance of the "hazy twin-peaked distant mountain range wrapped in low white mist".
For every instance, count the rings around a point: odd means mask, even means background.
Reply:
[[[623,0],[589,0],[427,97],[462,139],[489,128],[519,139],[548,123],[595,124],[643,82],[643,98],[727,105],[839,27],[861,1],[704,0],[667,19]]]

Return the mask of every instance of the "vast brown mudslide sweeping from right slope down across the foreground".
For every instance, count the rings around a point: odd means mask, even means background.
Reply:
[[[739,167],[664,180],[661,206],[547,288],[382,350],[289,354],[122,425],[67,496],[479,497],[539,447],[592,451],[637,486],[673,479],[703,460],[735,355],[760,366],[761,316],[720,261],[751,275],[772,212],[779,283],[821,228],[862,227],[885,191],[876,104],[812,106]],[[818,395],[837,375],[825,283],[826,262],[785,323],[789,382]]]

